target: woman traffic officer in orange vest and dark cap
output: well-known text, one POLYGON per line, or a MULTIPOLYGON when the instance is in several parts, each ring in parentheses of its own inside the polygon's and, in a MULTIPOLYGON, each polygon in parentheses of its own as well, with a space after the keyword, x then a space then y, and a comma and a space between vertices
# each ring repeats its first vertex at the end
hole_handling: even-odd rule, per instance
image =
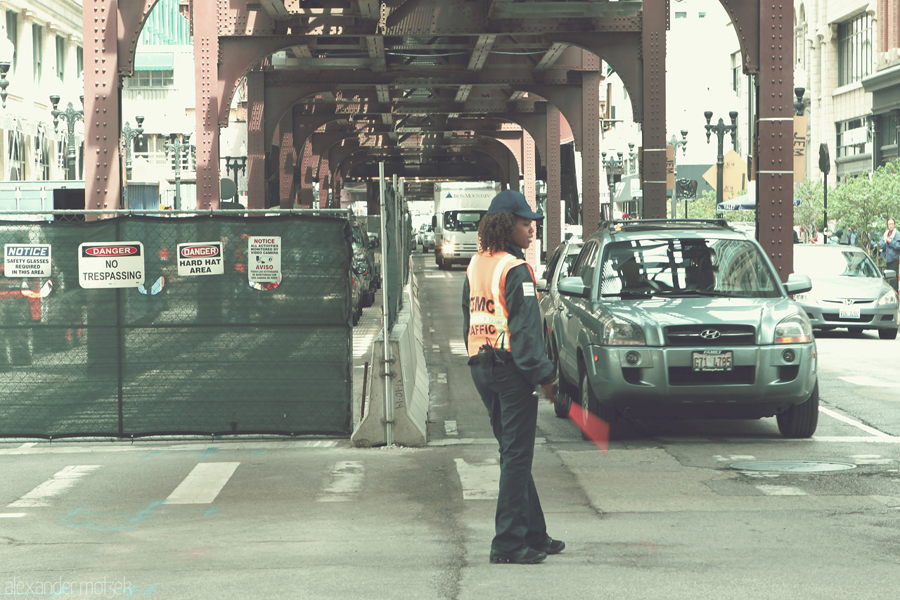
POLYGON ((540 385, 554 401, 555 368, 544 353, 536 279, 523 250, 532 223, 544 216, 525 195, 494 196, 478 226, 479 251, 463 286, 464 340, 472 379, 500 444, 500 494, 491 541, 492 563, 536 564, 565 544, 547 535, 531 464, 535 456, 540 385))

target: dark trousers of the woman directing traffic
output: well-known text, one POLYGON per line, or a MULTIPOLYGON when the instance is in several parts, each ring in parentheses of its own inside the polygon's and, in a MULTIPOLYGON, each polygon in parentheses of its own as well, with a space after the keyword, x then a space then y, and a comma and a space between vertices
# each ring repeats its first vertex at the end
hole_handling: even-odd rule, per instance
POLYGON ((500 494, 491 548, 511 551, 524 544, 539 545, 547 537, 547 525, 531 477, 537 432, 535 386, 512 365, 491 369, 473 365, 471 369, 500 444, 500 494))

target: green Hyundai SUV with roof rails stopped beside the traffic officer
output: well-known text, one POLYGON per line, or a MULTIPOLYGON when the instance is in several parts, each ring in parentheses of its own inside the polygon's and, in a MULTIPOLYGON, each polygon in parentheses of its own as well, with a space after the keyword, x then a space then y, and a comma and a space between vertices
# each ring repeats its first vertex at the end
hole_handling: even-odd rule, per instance
POLYGON ((775 416, 788 438, 818 423, 815 340, 760 244, 724 220, 603 223, 559 282, 563 391, 609 424, 775 416))

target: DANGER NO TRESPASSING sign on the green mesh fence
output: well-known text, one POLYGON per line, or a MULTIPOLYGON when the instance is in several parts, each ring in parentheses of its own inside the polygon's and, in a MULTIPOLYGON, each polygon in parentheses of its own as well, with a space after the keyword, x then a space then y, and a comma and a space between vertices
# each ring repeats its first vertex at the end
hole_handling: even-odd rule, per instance
POLYGON ((137 287, 144 284, 144 245, 139 241, 85 242, 78 246, 82 287, 137 287))

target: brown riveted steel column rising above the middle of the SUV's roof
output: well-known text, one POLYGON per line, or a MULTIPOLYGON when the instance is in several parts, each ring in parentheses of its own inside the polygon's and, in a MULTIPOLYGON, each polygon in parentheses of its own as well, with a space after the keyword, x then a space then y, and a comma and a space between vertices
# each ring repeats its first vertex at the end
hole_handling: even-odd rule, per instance
POLYGON ((644 58, 643 216, 666 217, 666 0, 645 0, 641 34, 644 58))

